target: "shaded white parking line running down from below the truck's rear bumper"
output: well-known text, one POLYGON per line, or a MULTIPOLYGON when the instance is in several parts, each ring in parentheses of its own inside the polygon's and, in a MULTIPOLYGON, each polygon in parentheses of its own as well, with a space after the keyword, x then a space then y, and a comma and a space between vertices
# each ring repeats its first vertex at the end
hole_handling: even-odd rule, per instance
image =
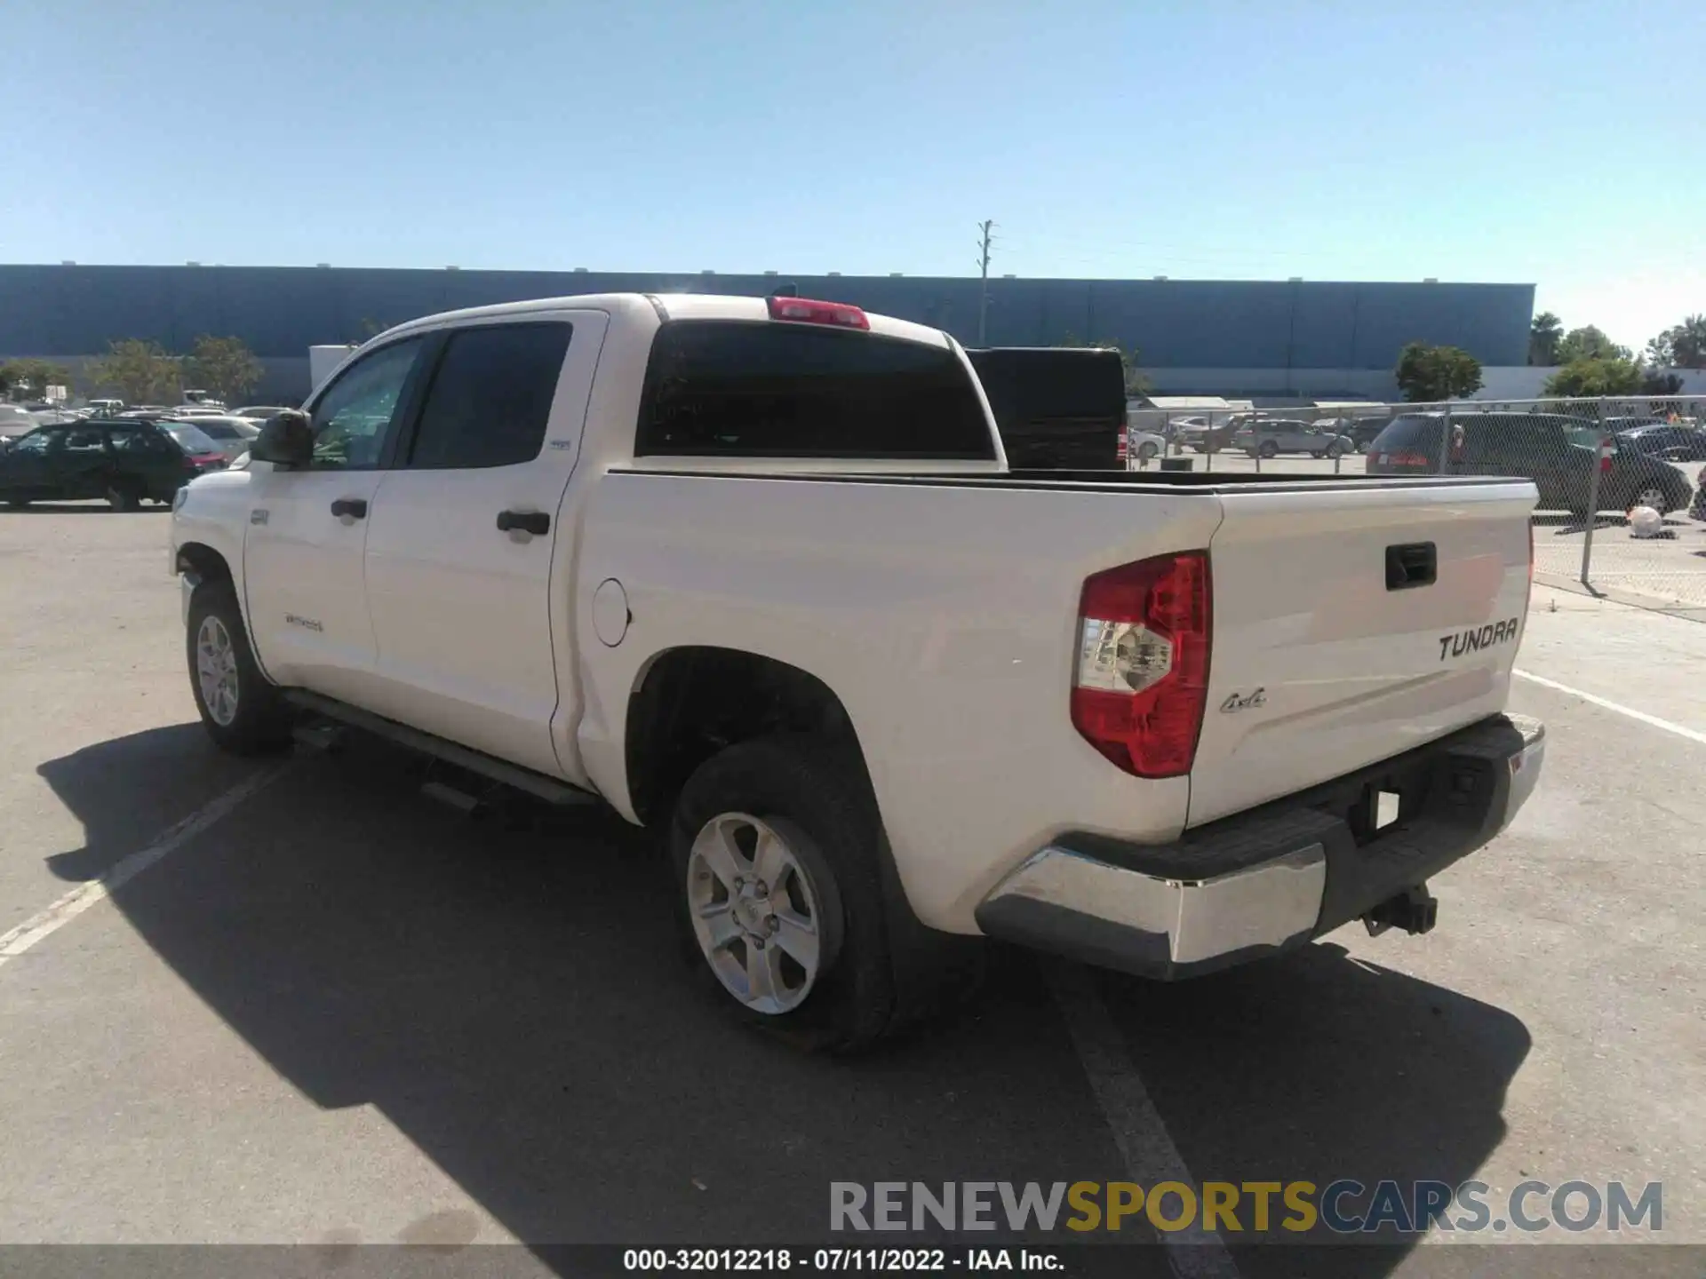
MULTIPOLYGON (((1102 1107, 1102 1117, 1114 1134, 1126 1175, 1143 1187, 1145 1194, 1160 1182, 1182 1182, 1196 1189, 1184 1156, 1167 1134, 1167 1124, 1150 1100, 1138 1068, 1126 1052, 1119 1027, 1109 1016, 1090 974, 1076 964, 1044 960, 1054 1003, 1066 1018, 1066 1032, 1090 1090, 1102 1107)), ((1239 1279, 1239 1267, 1221 1241, 1220 1233, 1192 1226, 1181 1231, 1157 1231, 1167 1247, 1167 1264, 1179 1279, 1239 1279)))

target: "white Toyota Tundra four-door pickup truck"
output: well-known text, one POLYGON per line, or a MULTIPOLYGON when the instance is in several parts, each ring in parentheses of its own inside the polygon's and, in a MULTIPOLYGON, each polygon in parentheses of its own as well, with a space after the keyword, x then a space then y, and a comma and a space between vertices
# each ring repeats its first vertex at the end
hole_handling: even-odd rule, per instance
POLYGON ((1534 501, 1010 471, 937 329, 606 295, 372 339, 171 561, 220 747, 314 715, 602 798, 717 998, 846 1049, 979 935, 1170 979, 1430 928, 1541 769, 1534 501))

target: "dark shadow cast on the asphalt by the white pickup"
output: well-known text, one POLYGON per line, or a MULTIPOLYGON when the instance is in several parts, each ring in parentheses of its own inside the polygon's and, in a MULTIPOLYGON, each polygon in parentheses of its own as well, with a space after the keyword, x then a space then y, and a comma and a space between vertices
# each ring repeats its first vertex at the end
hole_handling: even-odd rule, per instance
MULTIPOLYGON (((206 764, 188 732, 41 767, 89 830, 55 870, 82 878, 154 836, 150 779, 206 764)), ((827 1235, 833 1180, 1123 1178, 1029 955, 993 952, 983 996, 913 1040, 802 1057, 688 981, 641 834, 602 813, 471 822, 416 781, 379 745, 297 761, 114 902, 307 1098, 375 1107, 517 1238, 804 1243, 827 1235)), ((1498 1144, 1529 1047, 1508 1013, 1332 945, 1099 984, 1198 1180, 1460 1182, 1498 1144)), ((391 1241, 322 1211, 322 1243, 391 1241)), ((442 1245, 476 1230, 416 1224, 442 1245)), ((1407 1250, 1336 1248, 1310 1270, 1372 1279, 1407 1250)), ((1295 1270, 1295 1250, 1247 1252, 1245 1274, 1295 1270)))

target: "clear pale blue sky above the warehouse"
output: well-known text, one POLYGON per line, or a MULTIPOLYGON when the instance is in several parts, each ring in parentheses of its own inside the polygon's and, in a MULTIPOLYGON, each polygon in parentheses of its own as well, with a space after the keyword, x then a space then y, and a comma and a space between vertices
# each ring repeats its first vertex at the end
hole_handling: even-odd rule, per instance
POLYGON ((1706 312, 1701 0, 19 0, 7 39, 0 261, 969 275, 989 217, 996 273, 1706 312))

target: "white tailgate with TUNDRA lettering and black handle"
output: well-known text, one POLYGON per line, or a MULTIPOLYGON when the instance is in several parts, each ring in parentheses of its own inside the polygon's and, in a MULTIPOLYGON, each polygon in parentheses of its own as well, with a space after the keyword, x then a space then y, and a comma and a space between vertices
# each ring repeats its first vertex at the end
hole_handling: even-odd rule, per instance
POLYGON ((1534 486, 1227 491, 1189 825, 1505 706, 1534 486))

